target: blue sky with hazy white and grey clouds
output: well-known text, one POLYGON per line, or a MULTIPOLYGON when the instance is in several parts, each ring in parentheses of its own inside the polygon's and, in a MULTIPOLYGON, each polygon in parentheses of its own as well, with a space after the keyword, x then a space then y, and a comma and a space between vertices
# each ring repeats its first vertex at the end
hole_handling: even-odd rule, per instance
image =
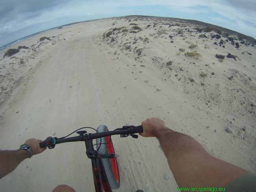
POLYGON ((0 47, 65 24, 128 15, 198 20, 256 39, 256 0, 1 0, 0 47))

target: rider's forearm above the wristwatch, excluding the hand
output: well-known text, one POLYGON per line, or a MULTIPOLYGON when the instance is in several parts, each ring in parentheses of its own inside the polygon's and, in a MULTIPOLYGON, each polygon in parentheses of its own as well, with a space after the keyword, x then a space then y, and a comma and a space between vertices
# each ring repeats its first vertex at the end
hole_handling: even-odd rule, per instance
POLYGON ((0 151, 0 179, 11 173, 24 159, 30 157, 26 150, 0 151))

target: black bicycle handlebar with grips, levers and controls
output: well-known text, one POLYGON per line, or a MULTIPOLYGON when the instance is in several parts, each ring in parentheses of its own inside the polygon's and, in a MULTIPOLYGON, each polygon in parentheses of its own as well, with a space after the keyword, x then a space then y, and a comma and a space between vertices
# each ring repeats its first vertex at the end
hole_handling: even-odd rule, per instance
POLYGON ((63 138, 58 139, 57 137, 48 137, 44 142, 39 143, 40 148, 45 148, 46 146, 49 149, 54 148, 55 144, 65 143, 65 142, 76 142, 76 141, 83 141, 83 137, 89 136, 91 139, 95 138, 101 138, 106 137, 110 135, 124 135, 123 137, 128 137, 128 135, 131 135, 134 138, 137 138, 138 136, 134 135, 134 133, 142 133, 143 127, 142 126, 123 126, 122 128, 117 129, 117 131, 106 131, 101 133, 85 133, 84 135, 79 135, 76 137, 69 137, 69 138, 63 138))

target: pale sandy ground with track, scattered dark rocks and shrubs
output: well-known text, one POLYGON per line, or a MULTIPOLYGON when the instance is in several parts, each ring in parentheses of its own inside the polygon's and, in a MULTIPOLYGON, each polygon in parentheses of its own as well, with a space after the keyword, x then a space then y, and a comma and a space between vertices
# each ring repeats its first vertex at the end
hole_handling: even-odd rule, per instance
MULTIPOLYGON (((0 61, 1 150, 17 150, 28 138, 63 137, 84 126, 96 129, 104 124, 113 130, 160 117, 169 128, 195 138, 211 155, 256 172, 256 47, 235 40, 240 45, 236 48, 221 37, 223 48, 213 44, 221 39, 209 37, 217 33, 197 33, 195 26, 178 26, 171 19, 130 20, 81 22, 0 51, 3 56, 9 48, 29 47, 0 61), (131 31, 131 23, 143 30, 113 31, 131 31), (115 34, 106 37, 108 31, 115 34), (39 42, 41 37, 51 41, 39 42), (191 44, 197 47, 191 50, 191 44), (192 51, 201 57, 184 54, 192 51), (239 59, 215 58, 228 53, 239 59), (172 65, 167 66, 169 61, 172 65), (207 76, 200 76, 202 72, 207 76)), ((115 191, 176 191, 156 138, 117 135, 112 140, 120 155, 121 187, 115 191)), ((83 142, 60 144, 20 163, 0 180, 0 191, 45 192, 66 184, 77 192, 93 192, 91 169, 83 142)))

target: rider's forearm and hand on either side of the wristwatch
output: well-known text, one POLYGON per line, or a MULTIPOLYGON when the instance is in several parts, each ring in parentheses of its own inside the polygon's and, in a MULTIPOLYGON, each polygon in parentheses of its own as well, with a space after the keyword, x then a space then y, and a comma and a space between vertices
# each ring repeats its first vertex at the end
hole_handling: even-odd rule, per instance
MULTIPOLYGON (((46 148, 40 148, 39 143, 42 140, 30 138, 24 144, 30 146, 33 155, 42 153, 46 148)), ((11 173, 24 159, 30 157, 27 150, 0 151, 0 179, 11 173)))

